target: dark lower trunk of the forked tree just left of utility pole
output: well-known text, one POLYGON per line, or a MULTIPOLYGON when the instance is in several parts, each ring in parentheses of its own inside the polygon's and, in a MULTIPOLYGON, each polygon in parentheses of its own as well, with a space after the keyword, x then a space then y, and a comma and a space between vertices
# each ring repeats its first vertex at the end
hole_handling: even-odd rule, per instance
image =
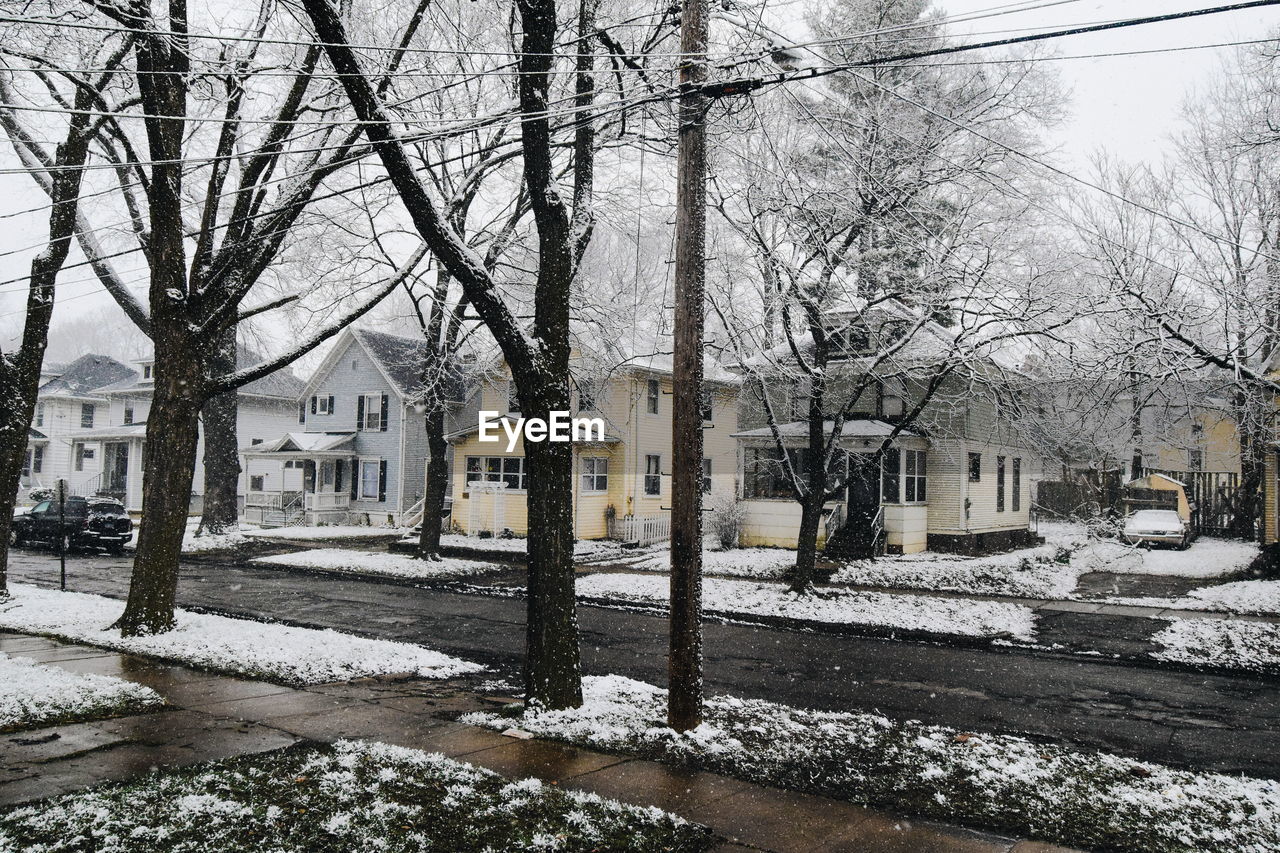
MULTIPOLYGON (((567 374, 566 374, 567 375, 567 374)), ((568 386, 557 400, 535 406, 531 418, 568 410, 568 386)), ((529 602, 526 615, 525 695, 545 708, 582 704, 577 613, 573 590, 573 446, 527 442, 529 602)))

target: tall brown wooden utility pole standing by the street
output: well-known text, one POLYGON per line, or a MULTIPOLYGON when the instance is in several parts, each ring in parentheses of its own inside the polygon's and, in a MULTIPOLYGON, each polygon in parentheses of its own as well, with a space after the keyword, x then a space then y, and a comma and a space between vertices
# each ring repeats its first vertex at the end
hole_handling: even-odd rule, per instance
POLYGON ((667 722, 703 720, 703 284, 707 257, 707 0, 680 20, 675 412, 671 430, 671 657, 667 722))

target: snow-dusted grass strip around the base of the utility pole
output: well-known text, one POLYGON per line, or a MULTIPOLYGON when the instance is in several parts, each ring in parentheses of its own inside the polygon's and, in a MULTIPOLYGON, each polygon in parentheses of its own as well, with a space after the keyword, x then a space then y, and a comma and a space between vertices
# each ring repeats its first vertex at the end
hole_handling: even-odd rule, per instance
MULTIPOLYGON (((1275 780, 724 695, 710 697, 705 722, 681 735, 667 727, 666 690, 620 676, 588 678, 584 690, 581 708, 529 712, 516 725, 538 736, 1085 849, 1280 849, 1275 780)), ((512 725, 499 713, 462 721, 512 725)))

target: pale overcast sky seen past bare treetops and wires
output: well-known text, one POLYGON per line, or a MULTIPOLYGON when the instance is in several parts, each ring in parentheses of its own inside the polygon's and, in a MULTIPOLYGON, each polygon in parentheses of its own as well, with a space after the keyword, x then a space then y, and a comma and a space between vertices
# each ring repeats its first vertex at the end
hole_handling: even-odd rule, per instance
MULTIPOLYGON (((1052 0, 1047 0, 1052 1, 1052 0)), ((940 0, 952 17, 964 17, 1001 5, 1004 0, 940 0)), ((1166 14, 1203 8, 1211 0, 1079 0, 1051 8, 1002 14, 956 23, 952 32, 966 40, 998 38, 1016 33, 992 33, 1042 27, 1070 27, 1115 18, 1166 14)), ((1192 20, 1151 24, 1116 32, 1062 38, 1053 44, 1059 55, 1100 54, 1125 50, 1181 47, 1262 38, 1280 28, 1280 8, 1233 12, 1192 20)), ((1208 85, 1231 49, 1194 50, 1142 56, 1069 59, 1057 61, 1061 79, 1070 91, 1070 115, 1057 131, 1059 163, 1085 174, 1091 154, 1106 149, 1126 160, 1158 160, 1175 131, 1188 91, 1208 85)), ((0 143, 0 168, 18 165, 13 151, 0 143)), ((0 174, 0 216, 44 202, 24 175, 0 174)), ((44 238, 46 214, 0 219, 0 280, 24 275, 29 268, 26 246, 44 238)), ((78 254, 72 261, 82 260, 78 254)), ((142 266, 124 257, 119 268, 125 278, 137 278, 142 266)), ((22 283, 0 283, 0 341, 9 342, 20 328, 24 292, 22 283)), ((110 298, 100 292, 87 268, 63 274, 55 318, 120 316, 110 298)))

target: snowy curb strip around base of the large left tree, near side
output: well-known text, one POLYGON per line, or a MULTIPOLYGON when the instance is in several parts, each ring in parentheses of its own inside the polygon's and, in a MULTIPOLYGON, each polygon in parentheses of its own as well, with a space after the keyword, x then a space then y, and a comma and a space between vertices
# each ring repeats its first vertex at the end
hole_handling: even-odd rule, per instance
POLYGON ((289 684, 390 672, 444 679, 484 669, 408 643, 183 610, 177 611, 178 624, 170 631, 120 637, 108 628, 120 615, 119 601, 27 584, 12 584, 10 592, 12 598, 0 605, 0 628, 289 684))

